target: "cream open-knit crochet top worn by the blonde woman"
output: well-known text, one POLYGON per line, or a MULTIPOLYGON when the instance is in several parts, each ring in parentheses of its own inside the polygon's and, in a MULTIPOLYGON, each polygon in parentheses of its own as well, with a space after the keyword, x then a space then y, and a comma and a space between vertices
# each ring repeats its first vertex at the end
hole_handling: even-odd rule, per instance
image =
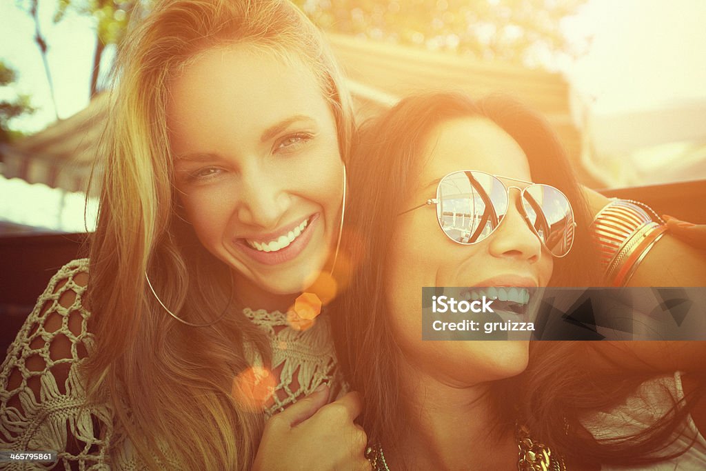
MULTIPOLYGON (((130 443, 109 449, 115 434, 109 408, 85 407, 78 366, 95 350, 87 328, 90 312, 81 302, 85 273, 88 258, 61 268, 8 349, 0 371, 0 450, 58 451, 59 469, 142 469, 130 443), (66 381, 57 382, 57 376, 66 381), (79 453, 67 451, 70 437, 83 446, 79 453)), ((272 341, 272 371, 279 383, 265 415, 296 402, 323 382, 341 387, 328 318, 320 316, 311 328, 295 330, 289 327, 287 314, 279 311, 243 313, 272 341)), ((256 358, 253 362, 257 366, 256 358)), ((19 462, 0 463, 0 468, 46 469, 19 462)))

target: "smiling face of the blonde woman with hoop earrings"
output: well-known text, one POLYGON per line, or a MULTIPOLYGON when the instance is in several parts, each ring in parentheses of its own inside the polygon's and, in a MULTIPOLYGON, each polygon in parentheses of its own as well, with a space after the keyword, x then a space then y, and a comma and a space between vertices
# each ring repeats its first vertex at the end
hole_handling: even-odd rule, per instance
POLYGON ((199 54, 169 92, 175 184, 201 244, 239 287, 301 292, 335 243, 343 186, 313 73, 237 44, 199 54))

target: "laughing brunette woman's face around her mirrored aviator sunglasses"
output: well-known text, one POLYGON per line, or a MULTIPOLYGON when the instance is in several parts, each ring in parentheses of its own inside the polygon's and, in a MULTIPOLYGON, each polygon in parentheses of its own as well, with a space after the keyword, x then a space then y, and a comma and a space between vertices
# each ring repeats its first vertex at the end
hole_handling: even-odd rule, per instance
MULTIPOLYGON (((532 181, 519 145, 489 119, 443 121, 430 133, 421 172, 406 208, 433 198, 438 179, 456 170, 532 181)), ((552 258, 527 225, 510 189, 508 213, 481 242, 463 246, 441 232, 433 205, 397 218, 385 287, 389 313, 405 360, 421 374, 462 387, 514 376, 527 366, 525 341, 421 340, 421 287, 546 286, 552 258)))

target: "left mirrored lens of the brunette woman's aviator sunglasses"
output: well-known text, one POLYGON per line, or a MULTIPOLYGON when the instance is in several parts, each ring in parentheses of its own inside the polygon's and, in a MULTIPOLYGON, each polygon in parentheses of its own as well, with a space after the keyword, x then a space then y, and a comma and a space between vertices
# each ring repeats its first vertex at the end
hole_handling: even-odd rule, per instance
POLYGON ((474 244, 498 227, 508 210, 502 182, 482 172, 453 172, 438 186, 436 215, 441 229, 460 244, 474 244))

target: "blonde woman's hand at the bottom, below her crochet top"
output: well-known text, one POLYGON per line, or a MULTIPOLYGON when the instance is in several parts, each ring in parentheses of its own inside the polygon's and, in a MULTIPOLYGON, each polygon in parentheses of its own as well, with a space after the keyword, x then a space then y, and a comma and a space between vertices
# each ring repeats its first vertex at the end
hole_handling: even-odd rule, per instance
POLYGON ((361 412, 358 393, 347 393, 328 402, 328 386, 322 385, 306 398, 265 424, 253 471, 366 470, 367 436, 354 424, 361 412))

